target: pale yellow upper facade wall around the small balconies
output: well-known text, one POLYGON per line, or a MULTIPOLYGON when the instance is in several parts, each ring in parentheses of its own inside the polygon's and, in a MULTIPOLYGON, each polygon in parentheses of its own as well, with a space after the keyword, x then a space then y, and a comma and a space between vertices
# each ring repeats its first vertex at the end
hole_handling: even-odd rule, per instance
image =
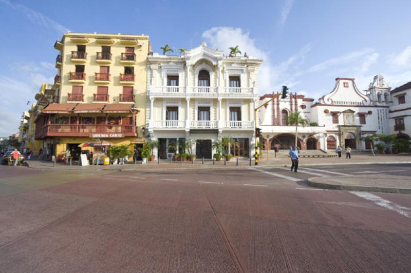
MULTIPOLYGON (((123 86, 133 86, 134 94, 136 96, 135 106, 140 111, 137 113, 137 126, 138 134, 140 139, 143 139, 143 133, 141 131, 142 127, 145 127, 145 107, 146 107, 146 81, 147 81, 147 56, 149 51, 149 40, 147 35, 117 35, 117 34, 90 34, 90 33, 68 33, 63 36, 63 50, 59 51, 63 56, 62 67, 58 69, 58 74, 61 75, 61 86, 60 86, 60 103, 67 102, 67 94, 71 93, 73 85, 83 86, 84 103, 92 103, 94 97, 93 94, 97 93, 97 86, 108 86, 109 103, 118 103, 120 94, 123 92, 123 86), (74 43, 70 41, 70 36, 86 36, 88 37, 89 43, 85 44, 87 53, 86 63, 74 63, 71 61, 71 51, 77 51, 77 45, 79 43, 74 43), (96 42, 96 37, 111 37, 115 41, 114 44, 100 44, 96 42), (120 42, 120 37, 133 37, 137 38, 139 45, 124 45, 120 42), (111 64, 101 64, 96 61, 96 52, 101 52, 102 46, 111 47, 111 64), (134 47, 134 52, 136 54, 136 64, 122 64, 120 62, 121 53, 125 53, 126 47, 134 47), (86 73, 86 83, 70 83, 69 82, 69 72, 74 72, 75 65, 84 65, 86 73), (110 79, 109 84, 95 84, 94 76, 95 72, 100 72, 100 66, 110 67, 110 79), (124 73, 125 66, 134 67, 135 83, 133 85, 120 84, 119 77, 120 73, 124 73)), ((54 86, 54 89, 59 87, 54 86)))

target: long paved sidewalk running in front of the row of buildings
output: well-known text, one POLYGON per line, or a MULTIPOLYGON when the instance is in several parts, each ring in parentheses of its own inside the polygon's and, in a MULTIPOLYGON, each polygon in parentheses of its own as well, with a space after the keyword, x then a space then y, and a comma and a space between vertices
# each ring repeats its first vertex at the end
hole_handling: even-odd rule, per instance
MULTIPOLYGON (((27 161, 28 166, 33 169, 62 169, 62 170, 163 170, 163 169, 211 169, 211 168, 238 168, 249 167, 250 161, 248 159, 238 160, 238 166, 236 165, 236 159, 232 159, 224 165, 223 161, 215 162, 205 160, 202 164, 201 160, 196 160, 194 164, 191 162, 172 162, 167 160, 161 160, 158 162, 150 162, 147 165, 141 164, 125 164, 125 165, 92 165, 92 166, 78 166, 57 163, 55 167, 50 161, 27 161)), ((345 158, 301 158, 300 166, 321 166, 321 165, 348 165, 348 164, 399 164, 399 163, 411 163, 410 155, 397 155, 397 154, 381 154, 373 157, 367 153, 354 153, 351 159, 345 158)), ((259 161, 258 166, 254 165, 254 160, 251 161, 251 167, 284 167, 291 164, 288 157, 269 158, 259 161)))

